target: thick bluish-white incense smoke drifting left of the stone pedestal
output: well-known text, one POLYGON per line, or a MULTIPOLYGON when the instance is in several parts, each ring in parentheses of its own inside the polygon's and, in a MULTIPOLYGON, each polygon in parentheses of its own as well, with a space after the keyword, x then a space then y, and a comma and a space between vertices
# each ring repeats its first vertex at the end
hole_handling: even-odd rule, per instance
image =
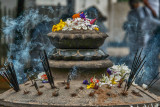
POLYGON ((9 40, 8 61, 14 64, 18 81, 22 83, 26 78, 25 69, 33 67, 36 69, 33 73, 42 70, 39 52, 45 49, 49 54, 53 50, 54 46, 46 34, 57 22, 33 9, 16 19, 3 17, 2 20, 5 24, 3 33, 9 40))

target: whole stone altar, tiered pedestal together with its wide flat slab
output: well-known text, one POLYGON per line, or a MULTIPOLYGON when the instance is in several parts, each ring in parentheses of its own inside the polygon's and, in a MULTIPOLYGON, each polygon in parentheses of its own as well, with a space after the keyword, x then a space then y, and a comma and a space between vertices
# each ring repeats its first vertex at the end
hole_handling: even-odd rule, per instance
MULTIPOLYGON (((87 69, 84 70, 88 73, 87 76, 94 76, 94 73, 101 75, 108 67, 112 66, 112 62, 107 59, 108 55, 98 49, 107 35, 97 31, 80 30, 70 31, 70 33, 54 32, 49 33, 48 36, 56 46, 54 53, 50 56, 49 63, 53 70, 57 89, 51 89, 49 84, 36 80, 39 90, 43 92, 42 95, 38 95, 37 90, 32 86, 32 82, 28 81, 20 85, 21 90, 19 92, 10 89, 0 94, 0 104, 13 107, 159 106, 159 96, 149 93, 136 85, 130 88, 126 96, 122 94, 123 88, 118 88, 117 85, 112 88, 102 85, 97 90, 87 89, 85 88, 86 85, 82 84, 82 78, 88 79, 86 75, 81 75, 80 81, 72 81, 70 83, 71 88, 66 90, 64 82, 57 80, 65 80, 68 74, 66 71, 73 66, 76 66, 78 70, 87 69), (87 44, 88 42, 93 47, 87 44), (29 93, 25 94, 25 91, 29 93), (55 92, 59 92, 59 95, 54 96, 55 92)), ((122 87, 124 85, 122 84, 122 87)))

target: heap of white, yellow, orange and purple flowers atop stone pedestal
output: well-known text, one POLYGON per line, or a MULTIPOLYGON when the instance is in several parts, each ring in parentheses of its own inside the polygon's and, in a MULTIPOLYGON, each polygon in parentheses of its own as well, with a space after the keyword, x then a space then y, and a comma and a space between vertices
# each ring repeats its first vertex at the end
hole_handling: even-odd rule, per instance
POLYGON ((99 31, 99 27, 95 24, 95 19, 87 18, 83 12, 74 14, 71 18, 68 18, 65 22, 60 20, 56 25, 53 25, 52 32, 56 31, 71 31, 71 30, 96 30, 99 31))

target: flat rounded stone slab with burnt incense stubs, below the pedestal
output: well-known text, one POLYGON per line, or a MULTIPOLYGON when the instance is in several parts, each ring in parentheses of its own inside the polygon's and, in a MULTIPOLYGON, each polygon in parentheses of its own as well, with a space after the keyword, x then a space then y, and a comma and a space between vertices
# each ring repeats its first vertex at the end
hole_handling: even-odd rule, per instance
MULTIPOLYGON (((143 88, 139 86, 132 85, 130 90, 127 92, 128 95, 124 96, 122 95, 123 89, 118 88, 117 86, 108 89, 106 88, 107 85, 103 85, 102 87, 99 87, 95 90, 87 89, 86 85, 82 84, 82 82, 83 81, 72 81, 70 82, 70 89, 66 90, 64 89, 65 84, 62 85, 62 81, 55 81, 55 85, 59 88, 59 91, 55 92, 56 90, 51 89, 49 84, 43 84, 41 81, 37 81, 37 84, 44 85, 44 88, 41 88, 40 90, 43 92, 43 94, 40 96, 37 96, 37 91, 34 87, 21 84, 21 89, 27 89, 27 91, 30 92, 28 94, 23 94, 24 90, 20 90, 18 93, 15 93, 13 89, 10 89, 0 94, 0 105, 10 107, 82 105, 108 107, 158 107, 158 103, 160 101, 159 96, 156 96, 149 91, 143 90, 143 88), (84 87, 83 90, 81 90, 80 87, 84 87), (73 93, 76 95, 72 96, 73 93)), ((122 84, 122 87, 124 87, 124 85, 125 84, 122 84)))

